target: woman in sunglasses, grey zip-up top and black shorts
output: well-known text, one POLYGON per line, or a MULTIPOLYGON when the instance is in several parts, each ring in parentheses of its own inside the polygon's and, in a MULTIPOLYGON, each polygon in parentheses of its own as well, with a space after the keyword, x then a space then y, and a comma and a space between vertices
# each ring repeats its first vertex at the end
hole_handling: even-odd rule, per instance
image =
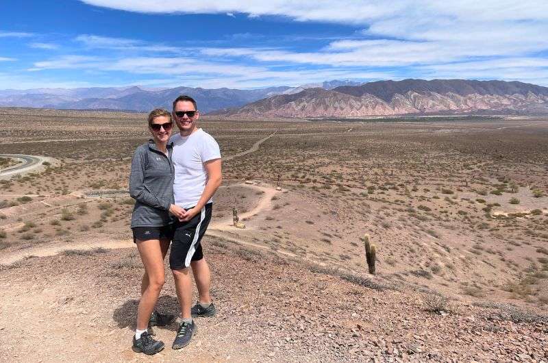
POLYGON ((153 138, 135 151, 129 175, 129 195, 136 200, 132 230, 145 266, 133 349, 152 355, 164 349, 164 343, 154 340, 147 327, 166 325, 175 318, 158 314, 154 305, 164 285, 164 258, 173 237, 169 213, 180 216, 184 211, 173 204, 175 171, 171 162, 173 143, 169 143, 173 128, 171 114, 162 109, 153 110, 148 123, 153 138))

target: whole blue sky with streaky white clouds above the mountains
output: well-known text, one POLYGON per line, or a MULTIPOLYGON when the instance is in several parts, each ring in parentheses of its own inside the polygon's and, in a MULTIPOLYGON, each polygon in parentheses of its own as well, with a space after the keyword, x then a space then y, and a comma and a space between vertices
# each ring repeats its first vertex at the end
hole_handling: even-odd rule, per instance
POLYGON ((330 79, 548 86, 545 0, 0 3, 0 89, 330 79))

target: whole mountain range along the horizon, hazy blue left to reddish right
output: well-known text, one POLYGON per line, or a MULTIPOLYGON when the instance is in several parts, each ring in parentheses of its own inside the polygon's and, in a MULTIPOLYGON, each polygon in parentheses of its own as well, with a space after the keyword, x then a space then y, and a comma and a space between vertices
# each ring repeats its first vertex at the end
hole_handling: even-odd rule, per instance
POLYGON ((37 88, 0 90, 0 107, 148 111, 171 108, 178 95, 203 113, 229 118, 360 117, 403 114, 548 114, 548 88, 522 82, 405 79, 333 80, 297 87, 37 88))

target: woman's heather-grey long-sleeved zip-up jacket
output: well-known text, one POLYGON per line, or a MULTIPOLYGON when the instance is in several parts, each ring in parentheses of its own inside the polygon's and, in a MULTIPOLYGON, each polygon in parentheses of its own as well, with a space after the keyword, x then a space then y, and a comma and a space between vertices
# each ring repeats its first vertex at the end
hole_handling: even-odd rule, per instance
POLYGON ((175 169, 171 162, 173 142, 168 155, 156 148, 153 140, 140 145, 133 156, 129 175, 129 195, 136 200, 132 214, 133 227, 161 227, 173 223, 169 205, 173 200, 175 169))

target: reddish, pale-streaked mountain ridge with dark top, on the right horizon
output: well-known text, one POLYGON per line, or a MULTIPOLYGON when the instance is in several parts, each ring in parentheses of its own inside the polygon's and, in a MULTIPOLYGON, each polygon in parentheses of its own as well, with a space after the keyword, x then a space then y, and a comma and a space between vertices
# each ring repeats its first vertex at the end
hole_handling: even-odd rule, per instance
POLYGON ((299 118, 471 112, 548 114, 548 88, 522 82, 465 79, 379 81, 276 95, 221 116, 299 118))

